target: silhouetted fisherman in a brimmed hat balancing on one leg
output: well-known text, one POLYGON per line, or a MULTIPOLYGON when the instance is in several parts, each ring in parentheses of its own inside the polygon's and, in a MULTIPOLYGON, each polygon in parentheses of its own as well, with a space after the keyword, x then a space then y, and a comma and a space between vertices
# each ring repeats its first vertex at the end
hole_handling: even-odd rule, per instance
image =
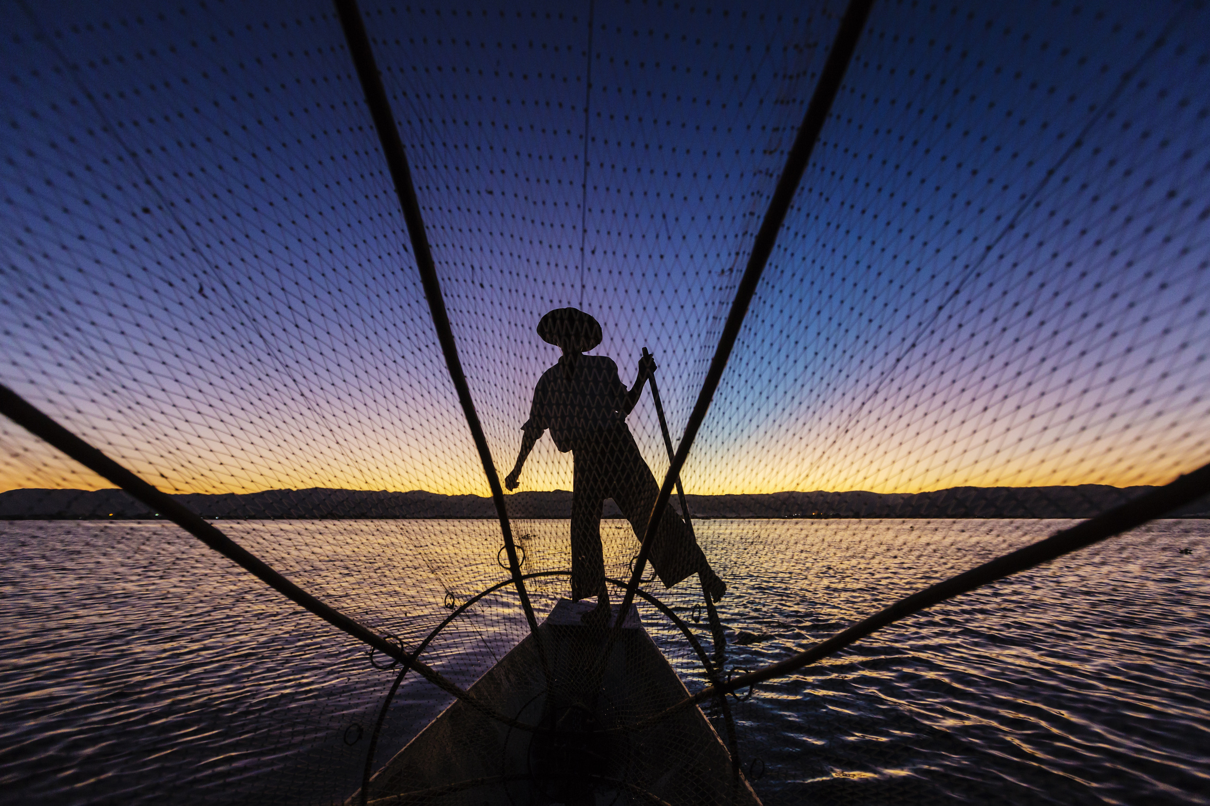
MULTIPOLYGON (((560 451, 571 451, 575 466, 571 598, 578 602, 595 596, 597 607, 584 614, 583 621, 604 625, 610 617, 600 535, 605 499, 613 499, 641 540, 659 494, 659 486, 626 425, 626 416, 639 401, 643 385, 656 371, 656 363, 650 355, 644 356, 634 385, 627 389, 612 359, 584 355, 601 343, 601 326, 577 308, 549 312, 538 321, 537 335, 561 348, 563 358, 542 373, 534 389, 530 418, 522 427, 522 450, 505 485, 517 489, 525 458, 547 429, 560 451)), ((664 509, 652 539, 651 564, 664 587, 696 573, 715 602, 722 598, 727 586, 710 568, 693 533, 670 506, 664 509)))

